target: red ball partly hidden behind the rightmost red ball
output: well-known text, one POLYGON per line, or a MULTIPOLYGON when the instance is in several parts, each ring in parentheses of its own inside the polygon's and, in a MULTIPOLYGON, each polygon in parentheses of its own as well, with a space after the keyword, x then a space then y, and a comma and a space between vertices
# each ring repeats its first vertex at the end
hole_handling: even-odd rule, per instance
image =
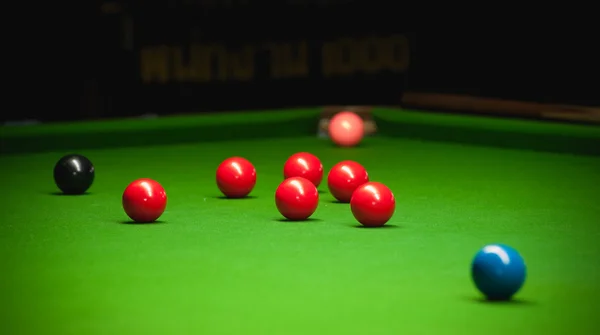
POLYGON ((334 165, 327 176, 327 186, 334 198, 348 203, 352 193, 369 181, 367 170, 357 162, 342 161, 334 165))

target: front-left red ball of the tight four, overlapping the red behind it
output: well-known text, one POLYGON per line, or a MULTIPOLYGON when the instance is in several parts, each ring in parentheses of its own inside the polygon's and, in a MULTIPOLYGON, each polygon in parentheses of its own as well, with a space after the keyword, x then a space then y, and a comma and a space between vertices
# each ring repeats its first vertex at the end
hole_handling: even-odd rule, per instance
POLYGON ((286 219, 306 220, 317 210, 319 192, 317 187, 306 178, 288 178, 277 187, 275 204, 279 213, 286 219))

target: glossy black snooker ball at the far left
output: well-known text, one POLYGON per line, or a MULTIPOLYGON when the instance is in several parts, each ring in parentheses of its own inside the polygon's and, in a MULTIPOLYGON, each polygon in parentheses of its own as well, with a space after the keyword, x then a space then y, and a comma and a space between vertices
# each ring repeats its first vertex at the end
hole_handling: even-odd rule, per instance
POLYGON ((54 166, 54 182, 64 194, 83 194, 94 182, 94 165, 85 156, 63 156, 54 166))

